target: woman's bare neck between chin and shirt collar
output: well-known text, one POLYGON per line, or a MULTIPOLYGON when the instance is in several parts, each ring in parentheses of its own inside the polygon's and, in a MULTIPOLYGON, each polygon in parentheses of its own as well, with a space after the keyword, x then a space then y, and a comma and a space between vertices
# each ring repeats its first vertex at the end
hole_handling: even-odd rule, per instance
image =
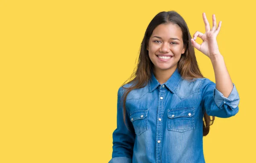
POLYGON ((176 68, 177 66, 167 70, 154 69, 154 76, 160 84, 163 84, 172 76, 176 68))

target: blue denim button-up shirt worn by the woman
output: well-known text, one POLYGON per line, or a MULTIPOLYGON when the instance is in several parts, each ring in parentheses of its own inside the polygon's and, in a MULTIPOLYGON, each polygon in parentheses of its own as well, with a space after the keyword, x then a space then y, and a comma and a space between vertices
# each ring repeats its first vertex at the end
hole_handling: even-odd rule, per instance
POLYGON ((234 84, 226 98, 207 78, 187 81, 176 69, 161 85, 151 73, 147 86, 132 90, 126 98, 130 132, 120 105, 124 91, 122 87, 118 90, 117 128, 109 163, 205 163, 204 112, 227 118, 239 111, 234 84))

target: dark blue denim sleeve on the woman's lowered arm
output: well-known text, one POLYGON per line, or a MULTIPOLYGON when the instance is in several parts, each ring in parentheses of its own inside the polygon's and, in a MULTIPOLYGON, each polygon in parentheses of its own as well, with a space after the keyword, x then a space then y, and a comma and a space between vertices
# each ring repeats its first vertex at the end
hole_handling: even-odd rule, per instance
POLYGON ((123 88, 120 87, 117 95, 117 127, 113 132, 113 152, 109 163, 132 163, 135 132, 127 108, 125 114, 127 126, 123 120, 122 92, 123 88))

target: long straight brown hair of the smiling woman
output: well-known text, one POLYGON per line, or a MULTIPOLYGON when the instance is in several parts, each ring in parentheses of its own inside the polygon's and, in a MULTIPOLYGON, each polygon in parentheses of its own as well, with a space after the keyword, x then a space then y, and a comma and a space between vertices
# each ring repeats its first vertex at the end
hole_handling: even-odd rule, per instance
MULTIPOLYGON (((188 78, 203 78, 201 71, 198 67, 198 63, 195 57, 195 50, 191 44, 191 36, 189 29, 186 25, 183 17, 180 16, 176 11, 162 11, 158 13, 149 23, 145 35, 143 37, 141 46, 140 46, 140 55, 137 62, 137 66, 134 69, 133 74, 122 84, 122 87, 125 90, 122 96, 122 106, 123 106, 123 120, 125 122, 125 100, 129 92, 134 89, 143 88, 147 85, 148 81, 151 79, 151 71, 153 71, 153 63, 151 62, 148 56, 147 45, 149 38, 153 33, 154 29, 160 24, 176 24, 180 27, 183 37, 183 45, 186 47, 186 50, 181 54, 180 60, 178 61, 178 71, 183 79, 188 78), (130 80, 130 81, 129 81, 130 80), (124 87, 126 82, 132 83, 128 88, 124 87)), ((206 136, 209 133, 210 125, 213 124, 215 117, 212 116, 212 120, 207 113, 204 113, 204 123, 203 123, 203 135, 206 136), (212 122, 212 123, 211 123, 212 122)), ((126 125, 126 123, 125 123, 126 125)))

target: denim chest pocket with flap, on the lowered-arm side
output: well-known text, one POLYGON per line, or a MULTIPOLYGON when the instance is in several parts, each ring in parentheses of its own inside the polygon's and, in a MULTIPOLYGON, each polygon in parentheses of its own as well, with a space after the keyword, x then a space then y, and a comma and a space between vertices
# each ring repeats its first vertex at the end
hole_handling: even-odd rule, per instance
POLYGON ((131 112, 130 120, 134 126, 135 134, 142 134, 148 129, 148 110, 131 112))

